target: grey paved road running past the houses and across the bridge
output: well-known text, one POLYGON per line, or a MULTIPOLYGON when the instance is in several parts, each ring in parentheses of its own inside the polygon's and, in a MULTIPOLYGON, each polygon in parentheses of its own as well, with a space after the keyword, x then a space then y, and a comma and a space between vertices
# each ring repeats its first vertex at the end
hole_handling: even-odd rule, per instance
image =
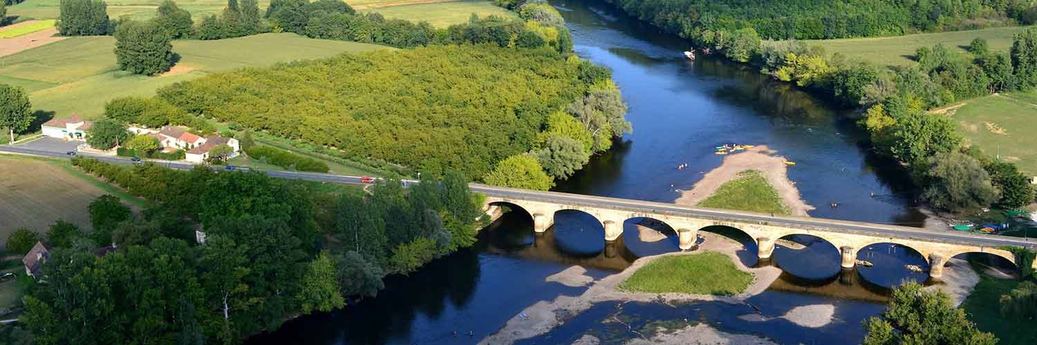
MULTIPOLYGON (((0 145, 0 152, 31 154, 40 156, 51 156, 51 157, 63 157, 63 159, 72 157, 72 155, 68 155, 65 152, 54 152, 54 151, 47 151, 41 149, 33 149, 28 147, 10 146, 10 145, 0 145)), ((109 163, 133 164, 132 161, 125 157, 110 156, 110 155, 92 155, 84 153, 80 154, 85 156, 95 157, 97 160, 109 163)), ((171 163, 171 162, 158 161, 156 162, 156 164, 174 169, 194 168, 193 165, 185 163, 171 163)), ((221 168, 214 167, 214 169, 221 169, 221 168)), ((248 171, 249 169, 242 168, 241 170, 248 171)), ((306 173, 306 172, 296 172, 296 171, 267 171, 267 174, 273 177, 306 179, 312 181, 337 182, 337 183, 363 183, 360 180, 360 176, 330 175, 330 174, 306 173)), ((411 183, 416 183, 416 182, 417 181, 415 180, 403 180, 404 185, 409 185, 411 183)), ((550 202, 569 204, 569 205, 585 205, 591 207, 627 209, 632 211, 647 212, 647 213, 665 213, 673 215, 700 217, 700 218, 710 218, 710 219, 728 219, 728 220, 751 222, 751 223, 765 222, 770 225, 814 227, 831 231, 864 233, 864 234, 877 235, 881 237, 933 240, 933 241, 952 242, 952 243, 971 243, 975 246, 988 247, 988 248, 996 248, 1001 246, 1022 246, 1031 249, 1037 249, 1037 241, 1031 241, 1029 239, 1024 239, 1019 237, 1010 237, 1010 236, 975 234, 975 233, 958 232, 958 231, 928 231, 920 228, 889 226, 889 225, 879 225, 879 224, 861 223, 861 222, 845 222, 845 221, 825 220, 825 219, 767 217, 766 214, 759 214, 759 213, 704 209, 704 208, 688 207, 688 206, 662 203, 662 202, 606 198, 606 197, 567 194, 558 192, 539 192, 539 191, 508 189, 508 188, 492 186, 479 183, 472 183, 471 186, 473 192, 478 192, 485 194, 487 196, 500 197, 500 198, 550 201, 550 202)))

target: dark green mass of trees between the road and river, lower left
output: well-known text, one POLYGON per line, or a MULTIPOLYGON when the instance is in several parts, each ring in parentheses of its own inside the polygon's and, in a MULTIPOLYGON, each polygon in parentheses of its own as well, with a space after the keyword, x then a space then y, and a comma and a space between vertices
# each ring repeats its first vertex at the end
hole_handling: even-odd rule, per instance
MULTIPOLYGON (((364 195, 257 172, 74 165, 149 204, 134 214, 102 196, 89 206, 92 231, 58 222, 32 238, 52 249, 47 283, 31 286, 20 319, 36 344, 240 343, 299 312, 373 296, 384 276, 472 246, 482 225, 482 199, 456 172, 364 195)), ((11 236, 32 241, 21 237, 11 236)))

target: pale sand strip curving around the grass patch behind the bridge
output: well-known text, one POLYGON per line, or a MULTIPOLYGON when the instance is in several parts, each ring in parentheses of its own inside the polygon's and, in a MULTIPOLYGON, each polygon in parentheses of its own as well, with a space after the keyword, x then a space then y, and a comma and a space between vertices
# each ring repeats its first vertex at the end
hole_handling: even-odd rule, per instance
POLYGON ((776 151, 767 148, 766 145, 760 145, 729 154, 724 157, 724 163, 720 167, 702 176, 702 179, 695 183, 691 191, 681 193, 680 198, 674 202, 686 206, 698 205, 699 202, 717 192, 724 182, 735 178, 739 172, 758 170, 763 173, 775 191, 778 191, 782 202, 789 208, 792 215, 808 217, 807 211, 814 209, 814 207, 800 198, 800 191, 788 179, 788 166, 785 165, 785 157, 775 153, 776 151))

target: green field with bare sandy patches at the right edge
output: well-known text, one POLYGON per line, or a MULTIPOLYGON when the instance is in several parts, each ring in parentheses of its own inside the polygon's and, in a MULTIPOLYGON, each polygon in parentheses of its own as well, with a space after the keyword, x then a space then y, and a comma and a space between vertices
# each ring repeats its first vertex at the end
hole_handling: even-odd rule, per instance
POLYGON ((1037 176, 1037 90, 970 99, 946 112, 969 144, 1037 176))

